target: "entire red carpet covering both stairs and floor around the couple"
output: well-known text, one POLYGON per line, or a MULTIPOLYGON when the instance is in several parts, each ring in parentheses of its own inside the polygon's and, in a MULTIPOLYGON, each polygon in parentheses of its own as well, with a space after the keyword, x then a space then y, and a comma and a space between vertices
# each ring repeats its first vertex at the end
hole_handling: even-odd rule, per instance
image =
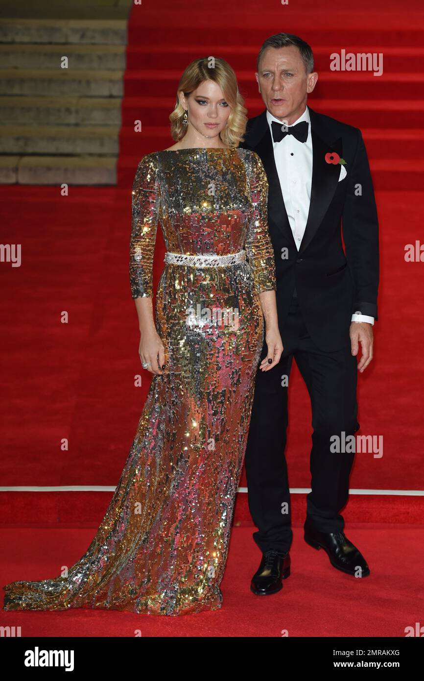
MULTIPOLYGON (((404 259, 406 244, 423 239, 424 12, 421 0, 411 0, 408 12, 383 0, 361 0, 341 12, 325 10, 333 3, 313 7, 305 0, 297 8, 270 0, 242 6, 219 1, 212 12, 197 3, 193 9, 186 3, 181 12, 174 3, 146 0, 133 8, 129 23, 119 187, 71 187, 69 197, 61 197, 57 187, 0 187, 1 242, 22 246, 20 267, 0 266, 3 486, 114 486, 118 481, 150 378, 137 354, 127 265, 135 168, 145 153, 172 144, 168 116, 178 77, 191 59, 205 54, 227 59, 254 116, 263 110, 253 76, 257 50, 268 35, 291 31, 316 53, 320 76, 310 106, 363 130, 376 187, 380 319, 374 327, 374 362, 359 377, 359 422, 361 434, 383 437, 384 451, 382 458, 357 454, 350 488, 424 489, 424 274, 421 263, 404 259), (383 75, 330 72, 329 53, 342 49, 383 52, 383 75), (142 121, 142 133, 133 131, 135 120, 142 121), (63 313, 69 315, 67 323, 61 322, 63 313), (134 377, 140 373, 143 385, 136 388, 134 377)), ((162 267, 159 238, 155 285, 162 267)), ((308 488, 310 406, 297 370, 291 377, 290 413, 291 488, 308 488)), ((240 485, 246 486, 244 475, 240 485)), ((53 576, 59 573, 58 561, 77 560, 110 496, 0 492, 3 526, 14 526, 3 529, 8 566, 2 584, 53 576), (91 529, 71 531, 58 524, 91 529), (16 529, 29 525, 56 529, 16 529)), ((238 496, 235 523, 248 524, 246 494, 238 496)), ((292 497, 299 526, 304 494, 292 497)), ((266 604, 248 591, 259 560, 252 527, 236 527, 223 609, 181 622, 143 616, 144 632, 279 636, 289 629, 292 636, 402 636, 422 613, 422 590, 416 585, 422 581, 423 542, 413 525, 423 524, 423 508, 423 496, 352 495, 344 511, 346 533, 368 558, 372 575, 356 584, 295 530, 293 575, 282 594, 266 604), (359 520, 368 523, 366 529, 348 531, 349 523, 359 520), (376 529, 373 522, 396 523, 397 529, 376 529)), ((3 613, 1 623, 6 619, 7 624, 17 621, 13 613, 3 613)), ((125 636, 132 635, 140 616, 22 613, 19 622, 25 627, 22 635, 71 635, 84 626, 85 635, 125 636)))

